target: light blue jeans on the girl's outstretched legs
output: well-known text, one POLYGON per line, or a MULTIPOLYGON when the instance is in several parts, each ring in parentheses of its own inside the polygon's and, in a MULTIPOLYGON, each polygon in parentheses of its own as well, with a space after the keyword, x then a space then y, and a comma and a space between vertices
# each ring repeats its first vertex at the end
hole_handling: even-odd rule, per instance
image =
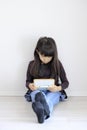
POLYGON ((60 96, 61 96, 61 93, 60 92, 50 92, 48 90, 35 90, 33 92, 31 92, 31 99, 32 99, 32 102, 35 102, 35 95, 38 93, 38 92, 42 92, 47 103, 48 103, 48 106, 49 106, 49 109, 50 109, 50 114, 52 113, 53 111, 53 108, 56 104, 59 103, 60 101, 60 96))

